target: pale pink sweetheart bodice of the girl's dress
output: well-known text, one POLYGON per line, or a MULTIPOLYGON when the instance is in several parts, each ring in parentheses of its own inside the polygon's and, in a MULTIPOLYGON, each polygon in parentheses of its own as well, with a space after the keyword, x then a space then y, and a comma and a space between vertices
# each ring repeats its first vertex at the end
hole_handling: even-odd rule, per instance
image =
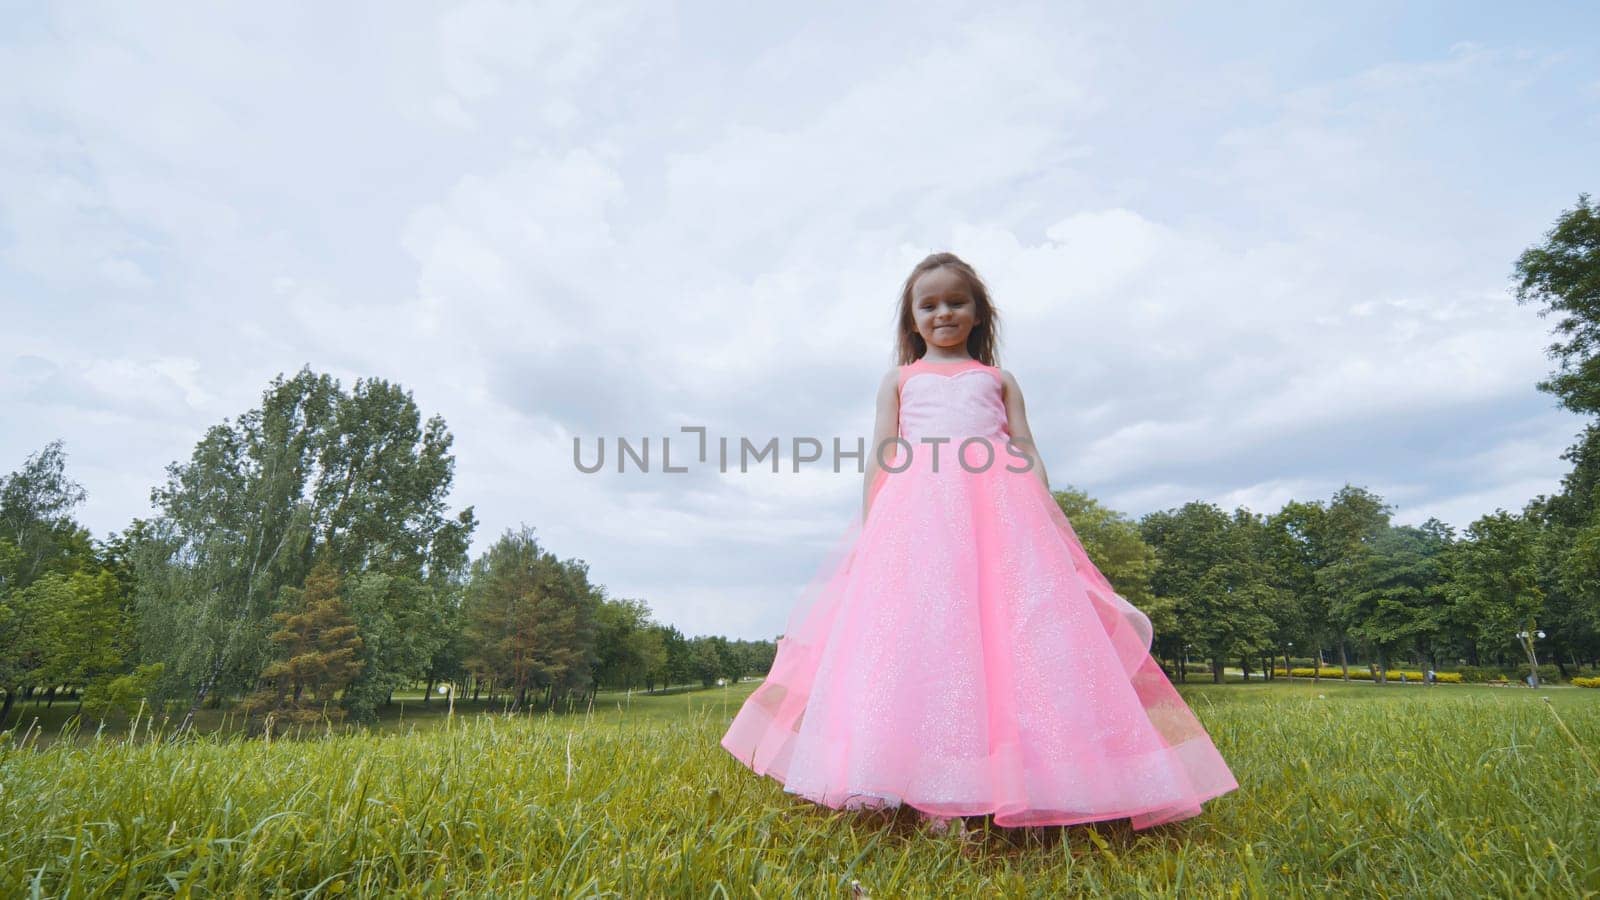
POLYGON ((899 432, 923 437, 1010 439, 1000 370, 976 359, 928 362, 899 368, 899 432))

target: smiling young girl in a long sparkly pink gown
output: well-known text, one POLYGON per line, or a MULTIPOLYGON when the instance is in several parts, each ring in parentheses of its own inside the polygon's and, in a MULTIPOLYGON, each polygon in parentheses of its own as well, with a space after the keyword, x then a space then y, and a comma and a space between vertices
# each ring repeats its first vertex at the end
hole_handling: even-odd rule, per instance
POLYGON ((1150 620, 1051 496, 997 338, 971 266, 936 253, 912 269, 861 516, 722 746, 834 809, 1002 826, 1197 815, 1238 783, 1150 658, 1150 620))

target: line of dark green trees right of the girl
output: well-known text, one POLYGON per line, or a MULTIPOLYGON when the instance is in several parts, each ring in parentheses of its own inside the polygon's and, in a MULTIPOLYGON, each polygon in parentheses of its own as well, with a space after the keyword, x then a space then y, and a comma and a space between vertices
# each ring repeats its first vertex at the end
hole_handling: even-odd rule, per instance
POLYGON ((1085 549, 1155 626, 1179 679, 1205 660, 1272 671, 1280 658, 1352 661, 1384 681, 1397 660, 1562 677, 1600 660, 1600 215, 1582 194, 1514 266, 1517 303, 1557 315, 1557 370, 1538 389, 1586 416, 1554 495, 1496 509, 1462 533, 1346 484, 1272 514, 1187 503, 1138 522, 1056 492, 1085 549))

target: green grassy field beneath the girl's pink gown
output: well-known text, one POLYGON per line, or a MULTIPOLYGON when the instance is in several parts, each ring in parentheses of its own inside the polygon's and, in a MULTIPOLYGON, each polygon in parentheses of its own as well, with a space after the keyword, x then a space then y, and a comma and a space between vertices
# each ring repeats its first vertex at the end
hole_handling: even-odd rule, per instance
POLYGON ((1240 781, 1203 815, 939 834, 739 765, 717 740, 752 687, 570 716, 430 703, 270 746, 0 737, 0 895, 1600 894, 1600 773, 1573 743, 1600 746, 1600 690, 1189 685, 1240 781))

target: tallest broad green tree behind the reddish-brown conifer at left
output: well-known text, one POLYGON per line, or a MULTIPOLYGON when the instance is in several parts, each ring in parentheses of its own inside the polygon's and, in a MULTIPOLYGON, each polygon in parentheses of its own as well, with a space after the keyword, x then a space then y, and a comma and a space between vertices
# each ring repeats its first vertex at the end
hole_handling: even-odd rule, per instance
POLYGON ((395 685, 427 677, 475 527, 470 506, 454 517, 445 508, 451 440, 394 384, 363 380, 344 394, 302 368, 168 468, 152 492, 162 514, 131 557, 141 652, 166 663, 166 695, 190 698, 181 729, 208 697, 254 685, 274 653, 272 613, 318 557, 339 573, 362 634, 344 708, 371 721, 395 685))

